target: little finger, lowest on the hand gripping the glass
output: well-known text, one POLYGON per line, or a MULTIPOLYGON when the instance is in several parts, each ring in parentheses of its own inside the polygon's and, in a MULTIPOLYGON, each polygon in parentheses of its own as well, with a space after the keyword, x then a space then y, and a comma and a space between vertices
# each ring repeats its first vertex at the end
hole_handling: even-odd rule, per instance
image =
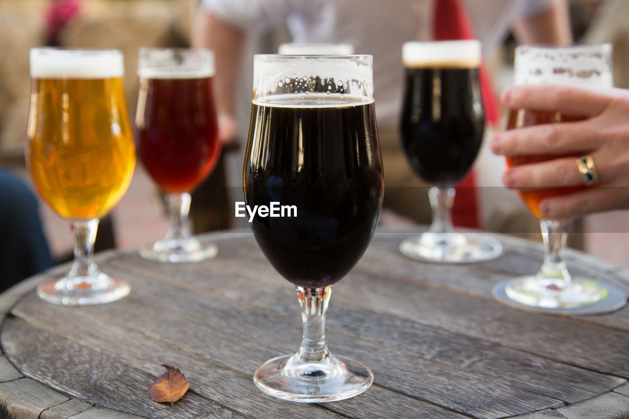
POLYGON ((581 192, 544 199, 540 211, 547 218, 576 218, 611 210, 629 209, 629 187, 597 186, 581 192))

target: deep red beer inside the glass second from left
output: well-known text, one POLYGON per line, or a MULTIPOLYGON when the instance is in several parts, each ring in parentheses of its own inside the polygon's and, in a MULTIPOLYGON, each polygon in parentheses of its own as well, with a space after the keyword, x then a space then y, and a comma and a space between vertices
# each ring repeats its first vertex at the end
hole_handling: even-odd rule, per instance
POLYGON ((167 193, 190 192, 221 152, 212 77, 140 78, 138 155, 167 193))

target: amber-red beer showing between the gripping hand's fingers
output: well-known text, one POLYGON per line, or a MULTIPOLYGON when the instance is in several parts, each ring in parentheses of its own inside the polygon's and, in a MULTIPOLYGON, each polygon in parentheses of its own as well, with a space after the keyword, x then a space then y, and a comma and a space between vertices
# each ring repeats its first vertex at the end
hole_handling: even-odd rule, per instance
MULTIPOLYGON (((550 124, 557 122, 572 122, 577 121, 578 118, 572 116, 561 115, 559 112, 547 112, 547 111, 531 111, 527 109, 520 109, 518 111, 511 111, 509 113, 509 122, 507 124, 507 130, 514 128, 523 128, 525 126, 550 124)), ((582 153, 568 154, 568 155, 518 155, 507 157, 507 167, 517 166, 521 164, 532 164, 538 162, 544 162, 546 160, 559 159, 561 157, 577 157, 582 153)), ((532 213, 538 218, 547 218, 542 216, 540 212, 540 202, 546 198, 552 198, 554 196, 567 195, 581 191, 585 186, 562 186, 562 187, 547 187, 543 189, 528 189, 518 190, 517 193, 526 206, 532 211, 532 213)))

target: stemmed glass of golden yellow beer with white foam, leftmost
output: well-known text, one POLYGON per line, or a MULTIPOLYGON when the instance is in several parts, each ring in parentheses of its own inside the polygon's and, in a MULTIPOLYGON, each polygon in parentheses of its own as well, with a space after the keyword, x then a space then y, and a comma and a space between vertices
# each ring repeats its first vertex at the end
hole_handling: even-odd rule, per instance
POLYGON ((125 194, 135 167, 122 53, 33 48, 30 72, 26 164, 38 193, 74 235, 70 272, 37 293, 64 305, 123 298, 128 284, 92 260, 98 220, 125 194))

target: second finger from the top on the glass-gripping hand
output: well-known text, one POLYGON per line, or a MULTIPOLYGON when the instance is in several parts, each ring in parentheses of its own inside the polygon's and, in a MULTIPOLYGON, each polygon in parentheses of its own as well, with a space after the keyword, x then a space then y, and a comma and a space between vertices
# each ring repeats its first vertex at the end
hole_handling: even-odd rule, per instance
POLYGON ((528 126, 497 133, 489 147, 495 154, 567 154, 599 147, 601 137, 592 121, 528 126))

